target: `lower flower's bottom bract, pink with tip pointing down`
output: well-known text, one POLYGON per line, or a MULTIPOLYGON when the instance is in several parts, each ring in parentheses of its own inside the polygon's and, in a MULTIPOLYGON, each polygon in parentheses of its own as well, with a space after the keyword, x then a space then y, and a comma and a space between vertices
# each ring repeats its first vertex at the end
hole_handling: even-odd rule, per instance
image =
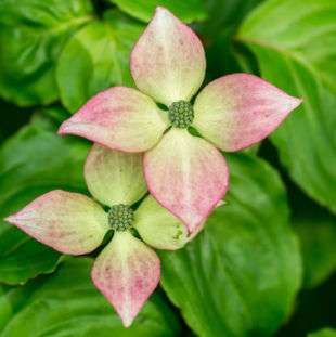
POLYGON ((130 326, 160 278, 157 254, 130 232, 117 232, 94 261, 93 284, 130 326))

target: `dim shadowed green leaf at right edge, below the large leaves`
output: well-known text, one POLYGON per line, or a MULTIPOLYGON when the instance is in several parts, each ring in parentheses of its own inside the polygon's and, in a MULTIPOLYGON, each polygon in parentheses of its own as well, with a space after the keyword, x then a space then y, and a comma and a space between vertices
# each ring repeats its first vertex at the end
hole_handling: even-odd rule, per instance
POLYGON ((303 254, 303 286, 311 288, 336 270, 336 217, 306 209, 293 224, 303 254))

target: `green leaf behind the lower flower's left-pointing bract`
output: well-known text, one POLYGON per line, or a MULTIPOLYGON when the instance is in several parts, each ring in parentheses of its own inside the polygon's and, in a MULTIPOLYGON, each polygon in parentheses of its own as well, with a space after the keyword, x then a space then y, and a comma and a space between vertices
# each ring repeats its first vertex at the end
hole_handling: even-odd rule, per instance
MULTIPOLYGON (((63 118, 64 111, 47 112, 63 118)), ((88 150, 79 139, 60 139, 51 119, 36 116, 0 148, 0 219, 53 189, 86 192, 82 166, 88 150)), ((60 261, 57 251, 2 220, 0 242, 0 282, 23 284, 52 272, 60 261)))

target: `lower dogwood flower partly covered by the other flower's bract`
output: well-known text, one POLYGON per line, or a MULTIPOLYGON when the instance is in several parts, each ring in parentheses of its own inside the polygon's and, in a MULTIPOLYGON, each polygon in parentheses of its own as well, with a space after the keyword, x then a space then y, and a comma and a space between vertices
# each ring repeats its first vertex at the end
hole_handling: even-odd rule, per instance
MULTIPOLYGON (((185 225, 155 199, 146 196, 142 154, 125 154, 94 144, 86 165, 86 195, 54 190, 36 198, 5 220, 54 249, 83 255, 99 247, 106 233, 112 241, 95 259, 91 278, 129 326, 160 278, 160 261, 148 246, 175 250, 183 247, 185 225), (135 229, 141 239, 133 236, 135 229)), ((202 230, 204 223, 197 229, 202 230)))

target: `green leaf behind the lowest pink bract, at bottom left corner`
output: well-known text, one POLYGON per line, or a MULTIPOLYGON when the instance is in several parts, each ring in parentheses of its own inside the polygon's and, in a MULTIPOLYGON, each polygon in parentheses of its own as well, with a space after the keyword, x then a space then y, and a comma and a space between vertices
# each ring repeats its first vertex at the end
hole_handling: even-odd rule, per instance
POLYGON ((113 307, 90 280, 92 261, 72 258, 53 275, 23 287, 2 287, 1 337, 169 337, 179 333, 171 309, 156 294, 132 326, 124 328, 113 307))

